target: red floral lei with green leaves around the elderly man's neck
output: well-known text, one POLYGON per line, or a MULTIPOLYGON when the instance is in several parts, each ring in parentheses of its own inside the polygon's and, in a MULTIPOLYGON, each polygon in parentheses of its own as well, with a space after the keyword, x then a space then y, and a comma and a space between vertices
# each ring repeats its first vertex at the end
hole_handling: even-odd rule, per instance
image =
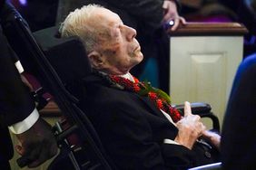
POLYGON ((140 82, 137 78, 133 77, 133 80, 128 80, 120 76, 110 75, 109 80, 115 83, 115 86, 123 90, 133 91, 140 96, 148 96, 158 109, 162 109, 168 113, 173 122, 179 121, 182 116, 178 109, 174 109, 171 106, 171 98, 162 90, 153 88, 148 81, 140 82))

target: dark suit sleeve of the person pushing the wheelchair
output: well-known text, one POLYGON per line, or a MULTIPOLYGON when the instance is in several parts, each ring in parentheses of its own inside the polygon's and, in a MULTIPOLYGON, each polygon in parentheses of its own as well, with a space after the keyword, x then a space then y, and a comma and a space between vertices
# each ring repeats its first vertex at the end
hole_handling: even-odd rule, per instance
POLYGON ((34 100, 15 68, 14 55, 0 25, 0 159, 6 160, 13 156, 7 126, 25 119, 34 110, 34 100))

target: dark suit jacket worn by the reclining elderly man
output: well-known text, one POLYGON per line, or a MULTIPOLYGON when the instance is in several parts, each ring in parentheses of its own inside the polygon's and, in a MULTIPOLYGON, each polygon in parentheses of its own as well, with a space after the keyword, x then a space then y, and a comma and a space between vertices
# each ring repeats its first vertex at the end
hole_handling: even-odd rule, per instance
POLYGON ((80 108, 91 119, 107 154, 119 169, 186 169, 212 163, 201 146, 163 144, 178 129, 146 97, 109 86, 97 76, 84 80, 80 108))

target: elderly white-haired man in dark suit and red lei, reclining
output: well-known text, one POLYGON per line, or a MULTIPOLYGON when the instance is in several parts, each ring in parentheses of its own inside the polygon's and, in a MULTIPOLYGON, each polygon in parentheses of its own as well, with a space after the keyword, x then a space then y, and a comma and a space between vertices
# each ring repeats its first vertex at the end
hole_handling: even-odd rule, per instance
POLYGON ((92 71, 65 85, 92 122, 113 169, 187 169, 220 161, 221 137, 205 129, 190 103, 176 109, 166 93, 129 73, 143 53, 136 31, 117 14, 84 6, 66 17, 60 34, 78 36, 86 49, 92 71))

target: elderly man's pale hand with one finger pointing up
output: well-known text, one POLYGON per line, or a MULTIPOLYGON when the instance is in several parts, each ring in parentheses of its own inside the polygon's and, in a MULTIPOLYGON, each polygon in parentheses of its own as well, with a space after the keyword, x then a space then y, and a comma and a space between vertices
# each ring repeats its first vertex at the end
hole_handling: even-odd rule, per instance
POLYGON ((184 104, 184 118, 176 123, 179 132, 174 141, 192 149, 197 138, 202 136, 205 126, 200 121, 200 116, 192 115, 190 103, 186 101, 184 104))

